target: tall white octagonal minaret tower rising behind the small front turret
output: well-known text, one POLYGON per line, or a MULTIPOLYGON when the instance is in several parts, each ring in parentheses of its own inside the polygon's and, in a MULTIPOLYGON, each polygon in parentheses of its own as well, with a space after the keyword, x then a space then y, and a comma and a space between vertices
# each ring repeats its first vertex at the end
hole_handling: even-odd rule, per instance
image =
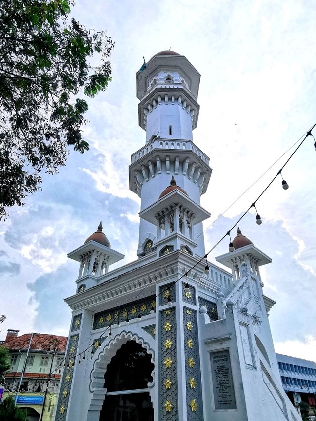
MULTIPOLYGON (((199 105, 200 75, 186 57, 174 51, 154 55, 144 71, 137 72, 139 125, 146 142, 131 157, 130 190, 141 198, 141 212, 155 203, 174 176, 180 188, 198 206, 211 176, 209 158, 193 143, 199 105)), ((189 230, 188 230, 189 232, 189 230)), ((196 254, 205 253, 202 223, 195 225, 196 254)), ((157 226, 141 218, 137 255, 148 241, 158 241, 157 226)), ((192 240, 192 239, 191 239, 192 240)))

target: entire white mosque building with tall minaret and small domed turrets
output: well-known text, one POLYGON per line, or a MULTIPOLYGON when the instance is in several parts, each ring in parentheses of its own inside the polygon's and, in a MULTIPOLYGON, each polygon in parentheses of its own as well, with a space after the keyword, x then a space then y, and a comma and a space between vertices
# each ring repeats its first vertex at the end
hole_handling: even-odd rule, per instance
MULTIPOLYGON (((154 55, 136 75, 145 145, 131 156, 141 199, 137 260, 102 223, 68 257, 79 262, 56 421, 299 421, 283 391, 260 266, 238 228, 207 261, 201 207, 212 174, 193 142, 200 75, 185 56, 154 55)), ((96 224, 97 225, 97 224, 96 224)))

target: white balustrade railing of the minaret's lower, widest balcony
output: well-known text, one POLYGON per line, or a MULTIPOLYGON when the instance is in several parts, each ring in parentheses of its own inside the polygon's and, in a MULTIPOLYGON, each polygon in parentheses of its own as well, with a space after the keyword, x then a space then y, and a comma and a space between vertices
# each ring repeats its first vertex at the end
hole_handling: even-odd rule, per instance
POLYGON ((168 149, 168 150, 186 150, 186 151, 193 151, 197 154, 197 156, 204 161, 206 164, 209 163, 209 157, 205 155, 191 140, 183 140, 183 139, 161 139, 161 138, 154 138, 150 142, 148 142, 143 148, 139 149, 137 152, 133 153, 131 156, 131 163, 138 161, 138 159, 143 158, 147 153, 153 151, 154 149, 168 149))

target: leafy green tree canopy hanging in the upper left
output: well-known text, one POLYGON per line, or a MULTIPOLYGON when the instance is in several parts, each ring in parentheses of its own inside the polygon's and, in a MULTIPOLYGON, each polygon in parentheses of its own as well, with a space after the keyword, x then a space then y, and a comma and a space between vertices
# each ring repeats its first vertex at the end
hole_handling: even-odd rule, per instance
POLYGON ((77 95, 107 87, 114 43, 70 19, 73 4, 0 2, 0 219, 40 188, 42 171, 65 165, 68 146, 89 149, 80 130, 88 105, 77 95))

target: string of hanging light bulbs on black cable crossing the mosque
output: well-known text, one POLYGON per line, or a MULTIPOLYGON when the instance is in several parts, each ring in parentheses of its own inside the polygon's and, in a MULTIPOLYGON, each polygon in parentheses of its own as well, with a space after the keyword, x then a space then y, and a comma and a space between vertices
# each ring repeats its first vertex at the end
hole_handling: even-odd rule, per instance
MULTIPOLYGON (((179 282, 181 279, 183 279, 184 277, 186 278, 186 284, 185 284, 185 291, 189 291, 189 284, 188 284, 188 274, 194 269, 194 268, 196 268, 197 267, 197 265, 199 265, 204 259, 205 259, 205 269, 204 269, 204 273, 205 274, 208 274, 209 273, 209 266, 208 266, 208 263, 207 263, 207 257, 208 257, 208 255, 228 236, 229 237, 229 239, 230 239, 230 243, 229 243, 229 251, 230 252, 234 252, 235 251, 235 249, 234 249, 234 246, 233 246, 233 243, 232 243, 232 240, 231 240, 231 236, 230 236, 230 233, 231 233, 231 230, 233 230, 236 226, 237 226, 237 224, 245 217, 245 215, 252 209, 252 208, 254 208, 255 209, 255 211, 256 211, 256 223, 258 224, 258 225, 260 225, 260 224, 262 224, 262 219, 261 219, 261 217, 260 217, 260 215, 259 215, 259 213, 258 213, 258 211, 257 211, 257 208, 256 208, 256 203, 257 203, 257 201, 262 197, 262 195, 269 189, 269 187, 272 185, 272 183, 276 180, 276 178, 280 175, 281 176, 281 178, 282 178, 282 181, 281 181, 281 184, 282 184, 282 188, 284 189, 284 190, 287 190, 288 188, 289 188, 289 185, 288 185, 288 183, 283 179, 283 176, 282 176, 282 171, 283 171, 283 169, 285 168, 285 166, 288 164, 288 162, 292 159, 292 157, 294 156, 294 154, 298 151, 298 149, 301 147, 301 145, 303 144, 303 142, 306 140, 306 138, 308 137, 308 136, 312 136, 313 137, 313 139, 314 139, 314 148, 315 148, 315 150, 316 150, 316 141, 315 141, 315 138, 314 138, 314 136, 313 136, 313 134, 312 134, 312 130, 315 128, 315 126, 316 126, 316 123, 310 128, 310 130, 308 130, 307 132, 306 132, 306 134, 305 135, 303 135, 303 136, 301 136, 300 137, 300 139, 298 139, 285 153, 283 153, 254 183, 252 183, 240 196, 238 196, 237 197, 237 199, 222 213, 222 214, 220 214, 219 215, 219 217, 215 220, 215 221, 213 221, 212 222, 212 224, 210 224, 210 226, 208 226, 202 233, 204 233, 206 230, 208 230, 221 216, 223 216, 223 214, 225 213, 225 212, 227 212, 227 210, 229 210, 236 202, 237 202, 237 200, 239 200, 254 184, 256 184, 275 164, 276 164, 276 162, 278 162, 290 149, 292 149, 293 148, 293 146, 294 145, 296 145, 302 138, 302 140, 301 140, 301 142, 299 143, 299 145, 297 146, 297 148, 294 150, 294 152, 289 156, 289 158, 286 160, 286 162, 283 164, 283 166, 280 168, 280 170, 276 173, 276 175, 272 178, 272 180, 268 183, 268 185, 264 188, 264 190, 263 191, 261 191, 261 193, 258 195, 258 197, 251 203, 251 205, 248 207, 248 209, 238 218, 238 220, 235 222, 235 224, 230 228, 230 230, 228 230, 218 241, 217 241, 217 243, 203 256, 203 257, 201 257, 201 258, 199 258, 198 260, 197 260, 197 262, 192 266, 192 267, 190 267, 182 276, 180 276, 177 280, 175 280, 175 281, 173 281, 173 282, 171 282, 171 283, 169 283, 166 287, 165 287, 165 289, 161 289, 161 291, 158 293, 158 294, 156 294, 155 295, 155 299, 156 298, 158 298, 160 295, 162 295, 163 293, 165 293, 166 291, 170 291, 170 286, 171 285, 175 285, 177 282, 179 282)), ((202 233, 200 233, 199 234, 199 236, 200 235, 202 235, 202 233)), ((198 237, 199 237, 198 236, 198 237)), ((197 237, 197 238, 198 238, 197 237)), ((196 239, 197 239, 196 238, 196 239)), ((196 241, 196 239, 194 240, 194 241, 196 241)), ((192 241, 192 242, 194 242, 194 241, 192 241)), ((183 252, 181 252, 181 253, 183 253, 183 252)), ((174 261, 175 261, 175 259, 176 259, 177 257, 175 257, 173 260, 172 260, 172 262, 168 265, 168 266, 170 266, 174 261)), ((142 288, 134 297, 133 297, 133 299, 131 300, 131 301, 134 301, 146 288, 148 287, 148 285, 146 285, 144 288, 142 288)), ((170 294, 168 294, 168 297, 167 297, 167 305, 168 306, 172 306, 172 301, 171 301, 171 298, 170 298, 170 294)), ((153 314, 155 312, 155 310, 154 310, 154 302, 153 302, 153 306, 152 306, 152 308, 151 308, 151 310, 150 310, 150 313, 151 314, 153 314)), ((98 339, 96 339, 96 340, 93 340, 92 341, 92 344, 90 344, 86 349, 84 349, 83 351, 81 351, 80 353, 78 353, 77 355, 74 355, 74 356, 65 356, 65 358, 61 361, 61 363, 55 368, 55 370, 52 372, 52 373, 54 373, 55 371, 57 371, 57 370, 59 370, 59 372, 61 371, 60 370, 60 367, 63 365, 64 367, 66 367, 66 365, 68 366, 68 367, 74 367, 74 362, 75 362, 75 359, 77 358, 77 357, 79 357, 79 362, 78 362, 78 364, 80 364, 81 363, 81 355, 83 354, 83 357, 82 357, 82 360, 85 360, 85 354, 89 351, 89 349, 90 348, 92 348, 92 350, 91 350, 91 356, 93 356, 94 355, 94 352, 93 352, 93 347, 100 347, 101 346, 101 339, 102 339, 102 337, 105 335, 105 333, 108 331, 108 330, 110 330, 109 331, 109 334, 108 334, 108 336, 109 337, 111 337, 111 335, 112 335, 112 333, 111 333, 111 325, 113 325, 113 323, 116 321, 116 319, 118 318, 118 322, 117 322, 117 325, 119 326, 120 325, 120 322, 119 322, 119 313, 113 318, 113 319, 111 319, 111 321, 110 321, 110 324, 109 324, 109 326, 107 326, 107 328, 100 334, 100 336, 99 336, 99 338, 98 339), (67 363, 67 359, 68 359, 68 364, 66 364, 67 363), (72 361, 72 363, 71 364, 69 364, 69 361, 72 361)), ((140 312, 138 313, 138 317, 137 317, 137 320, 139 321, 139 320, 141 320, 141 314, 140 314, 140 312)), ((129 324, 129 319, 128 319, 128 315, 127 315, 127 317, 126 317, 126 324, 129 324)))

